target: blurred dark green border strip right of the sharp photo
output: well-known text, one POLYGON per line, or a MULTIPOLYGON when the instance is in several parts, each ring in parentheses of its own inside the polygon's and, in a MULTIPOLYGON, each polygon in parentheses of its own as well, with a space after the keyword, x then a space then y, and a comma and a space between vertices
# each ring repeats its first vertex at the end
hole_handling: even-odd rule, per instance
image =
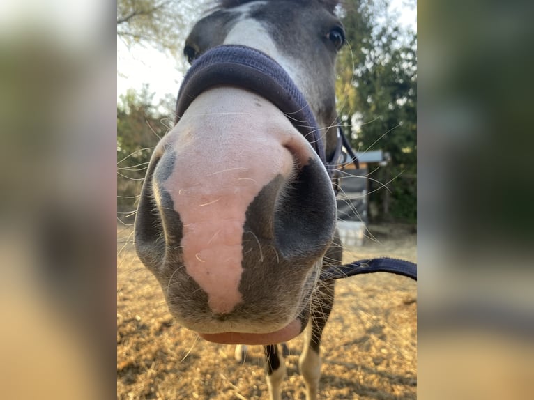
POLYGON ((534 377, 533 5, 420 1, 418 394, 534 377))

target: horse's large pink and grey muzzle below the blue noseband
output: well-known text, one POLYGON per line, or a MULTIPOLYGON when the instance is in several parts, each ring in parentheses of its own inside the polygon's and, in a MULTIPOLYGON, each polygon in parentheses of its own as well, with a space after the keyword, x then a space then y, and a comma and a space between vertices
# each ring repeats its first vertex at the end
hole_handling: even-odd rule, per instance
POLYGON ((257 91, 218 84, 188 93, 148 167, 139 258, 178 322, 206 339, 289 340, 307 323, 335 230, 319 145, 257 91))

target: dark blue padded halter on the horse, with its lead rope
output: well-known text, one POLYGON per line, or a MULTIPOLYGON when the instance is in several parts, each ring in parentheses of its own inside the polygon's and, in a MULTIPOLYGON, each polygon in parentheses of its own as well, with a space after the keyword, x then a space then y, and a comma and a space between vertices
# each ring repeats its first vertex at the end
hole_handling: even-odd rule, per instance
MULTIPOLYGON (((264 52, 241 45, 222 45, 209 49, 192 63, 178 92, 176 121, 202 92, 214 86, 238 86, 258 93, 282 111, 293 126, 307 139, 326 168, 330 179, 340 178, 339 166, 346 163, 346 154, 356 169, 358 157, 341 126, 337 125, 337 144, 329 160, 326 159, 323 139, 315 116, 293 79, 275 60, 264 52)), ((338 185, 334 185, 337 187, 338 185)), ((417 279, 417 266, 409 261, 379 258, 360 260, 344 266, 330 266, 321 272, 320 279, 328 281, 369 272, 390 272, 417 279)))

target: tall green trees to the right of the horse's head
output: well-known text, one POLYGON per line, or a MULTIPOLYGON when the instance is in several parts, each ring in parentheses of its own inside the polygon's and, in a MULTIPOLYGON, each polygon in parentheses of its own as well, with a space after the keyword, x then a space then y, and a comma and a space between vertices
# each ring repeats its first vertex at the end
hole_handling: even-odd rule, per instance
POLYGON ((386 3, 344 2, 346 46, 337 63, 340 115, 351 125, 351 141, 359 151, 382 149, 386 167, 370 178, 369 201, 379 205, 385 220, 415 222, 417 180, 417 38, 402 31, 386 3), (379 189, 374 191, 375 189, 379 189), (373 192, 374 191, 374 192, 373 192))

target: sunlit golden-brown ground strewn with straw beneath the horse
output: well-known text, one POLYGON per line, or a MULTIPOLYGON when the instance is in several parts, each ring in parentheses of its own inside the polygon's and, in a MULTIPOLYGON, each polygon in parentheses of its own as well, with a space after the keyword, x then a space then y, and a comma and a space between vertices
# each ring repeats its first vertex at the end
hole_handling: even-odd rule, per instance
MULTIPOLYGON (((372 256, 417 261, 404 226, 371 226, 374 238, 347 249, 344 263, 372 256)), ((117 399, 268 399, 261 346, 234 360, 235 346, 212 344, 174 323, 155 278, 135 256, 132 229, 118 226, 117 399)), ((417 289, 385 273, 337 281, 323 334, 321 399, 415 399, 417 289)), ((305 399, 298 374, 301 337, 289 342, 282 399, 305 399)))

